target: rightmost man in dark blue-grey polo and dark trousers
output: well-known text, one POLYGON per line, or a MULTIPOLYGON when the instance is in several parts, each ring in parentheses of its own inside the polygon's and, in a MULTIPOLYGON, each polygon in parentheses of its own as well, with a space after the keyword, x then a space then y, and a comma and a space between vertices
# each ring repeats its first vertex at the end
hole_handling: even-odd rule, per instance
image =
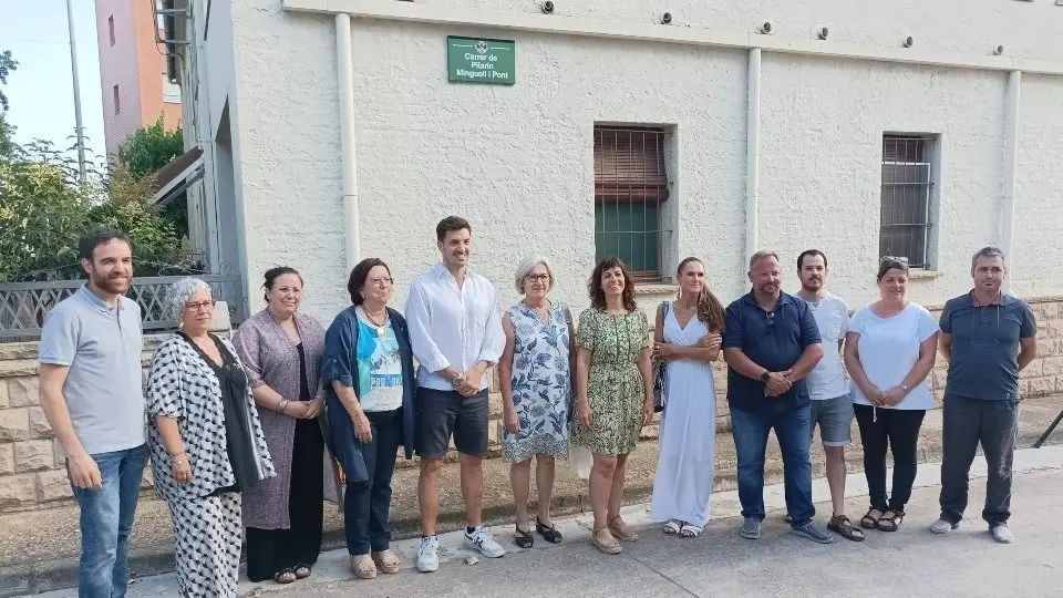
POLYGON ((989 477, 982 518, 997 542, 1015 536, 1011 516, 1011 466, 1019 431, 1019 372, 1038 354, 1038 324, 1030 308, 1001 292, 1004 256, 985 247, 971 260, 974 288, 945 305, 938 348, 949 361, 941 434, 941 518, 930 525, 948 534, 967 508, 971 462, 979 443, 989 477))

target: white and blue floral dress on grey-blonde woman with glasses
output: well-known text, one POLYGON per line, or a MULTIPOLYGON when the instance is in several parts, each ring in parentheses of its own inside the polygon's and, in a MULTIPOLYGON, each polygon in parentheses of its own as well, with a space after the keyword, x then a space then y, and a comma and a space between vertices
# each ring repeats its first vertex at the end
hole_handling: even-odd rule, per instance
POLYGON ((502 436, 502 457, 509 463, 533 455, 568 458, 568 405, 572 396, 568 317, 550 308, 544 322, 523 301, 506 312, 514 328, 513 406, 520 431, 502 436))

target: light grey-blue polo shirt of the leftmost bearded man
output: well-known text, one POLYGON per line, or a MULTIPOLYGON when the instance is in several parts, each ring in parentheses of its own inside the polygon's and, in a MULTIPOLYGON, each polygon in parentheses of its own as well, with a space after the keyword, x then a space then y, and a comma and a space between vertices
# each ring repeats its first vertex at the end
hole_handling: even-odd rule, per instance
POLYGON ((41 331, 41 363, 68 365, 63 396, 91 455, 144 444, 141 308, 115 308, 82 286, 55 306, 41 331))

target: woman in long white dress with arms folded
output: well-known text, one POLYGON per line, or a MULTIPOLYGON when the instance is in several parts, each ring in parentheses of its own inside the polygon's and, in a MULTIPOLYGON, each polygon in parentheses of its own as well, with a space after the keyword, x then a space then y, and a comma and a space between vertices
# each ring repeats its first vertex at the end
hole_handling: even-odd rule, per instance
POLYGON ((661 303, 653 330, 653 358, 665 362, 660 457, 653 482, 652 518, 664 533, 694 537, 709 523, 716 439, 712 362, 720 354, 724 310, 705 285, 698 258, 679 265, 680 296, 661 303))

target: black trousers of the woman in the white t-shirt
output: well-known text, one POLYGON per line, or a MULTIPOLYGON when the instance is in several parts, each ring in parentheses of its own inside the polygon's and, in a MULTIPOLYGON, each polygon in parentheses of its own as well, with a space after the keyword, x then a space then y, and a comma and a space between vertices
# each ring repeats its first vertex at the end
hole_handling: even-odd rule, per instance
POLYGON ((853 405, 864 442, 864 475, 870 494, 870 508, 904 513, 916 482, 916 446, 922 410, 875 409, 853 405), (894 453, 894 485, 886 496, 886 451, 894 453))

